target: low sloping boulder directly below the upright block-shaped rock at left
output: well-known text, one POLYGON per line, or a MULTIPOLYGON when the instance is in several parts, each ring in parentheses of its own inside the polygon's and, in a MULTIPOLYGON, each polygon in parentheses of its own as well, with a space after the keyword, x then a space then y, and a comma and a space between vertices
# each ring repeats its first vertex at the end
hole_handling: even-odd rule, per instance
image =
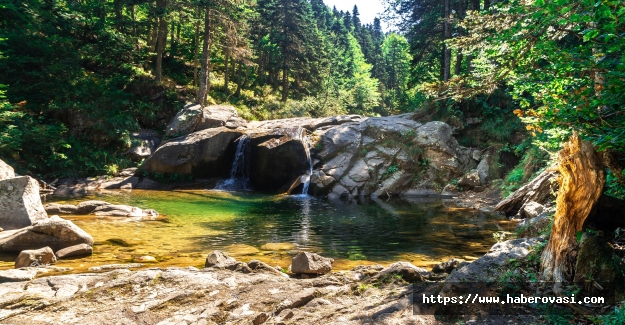
POLYGON ((0 237, 0 251, 4 252, 21 252, 45 246, 57 251, 78 244, 93 245, 93 237, 59 216, 40 220, 30 227, 0 237))

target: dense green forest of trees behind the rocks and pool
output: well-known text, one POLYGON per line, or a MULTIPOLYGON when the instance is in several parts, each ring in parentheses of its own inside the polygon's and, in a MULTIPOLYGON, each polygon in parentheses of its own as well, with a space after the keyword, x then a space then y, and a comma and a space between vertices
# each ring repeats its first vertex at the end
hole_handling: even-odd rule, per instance
POLYGON ((136 164, 130 133, 162 133, 187 102, 248 120, 414 112, 497 150, 508 192, 579 132, 625 196, 621 1, 385 4, 363 23, 322 0, 0 1, 0 156, 115 174, 136 164))

